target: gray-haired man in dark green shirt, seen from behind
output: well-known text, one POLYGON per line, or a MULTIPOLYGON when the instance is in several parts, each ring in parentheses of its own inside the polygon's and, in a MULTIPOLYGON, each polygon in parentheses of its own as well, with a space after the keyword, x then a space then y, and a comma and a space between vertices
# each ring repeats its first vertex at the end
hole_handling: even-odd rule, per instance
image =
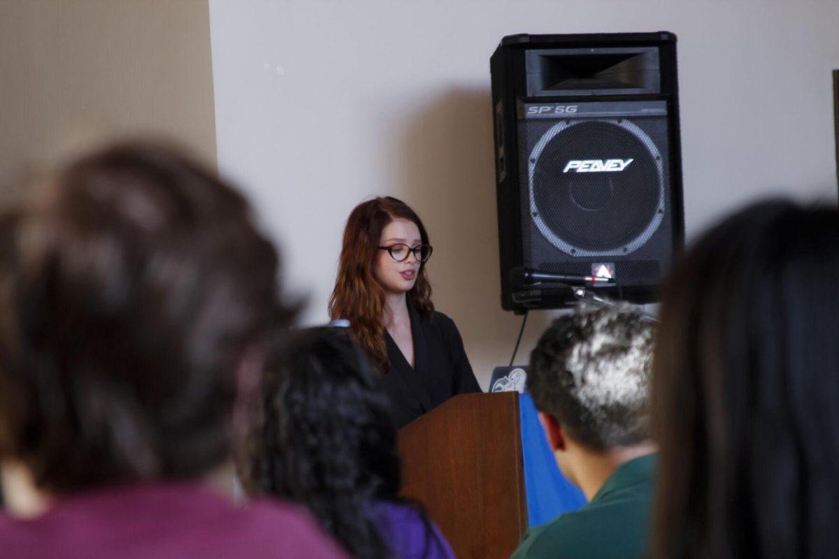
POLYGON ((542 334, 527 391, 556 463, 589 502, 528 531, 515 559, 644 556, 655 467, 653 333, 649 318, 622 305, 577 308, 542 334))

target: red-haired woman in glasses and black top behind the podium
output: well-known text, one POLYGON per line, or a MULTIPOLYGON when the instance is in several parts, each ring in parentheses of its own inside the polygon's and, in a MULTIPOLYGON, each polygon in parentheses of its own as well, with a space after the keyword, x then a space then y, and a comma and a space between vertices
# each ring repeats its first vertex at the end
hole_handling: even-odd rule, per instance
POLYGON ((480 392, 455 323, 437 313, 420 217, 390 196, 358 204, 344 230, 331 318, 347 318, 403 427, 451 396, 480 392))

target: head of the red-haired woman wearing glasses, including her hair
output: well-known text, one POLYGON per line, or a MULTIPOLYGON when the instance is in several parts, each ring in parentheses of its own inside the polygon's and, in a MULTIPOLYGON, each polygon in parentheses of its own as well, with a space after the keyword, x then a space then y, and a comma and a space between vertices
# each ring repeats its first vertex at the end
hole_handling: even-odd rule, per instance
POLYGON ((421 316, 434 313, 425 272, 430 256, 425 226, 402 200, 367 200, 347 219, 329 313, 352 323, 357 343, 378 370, 389 365, 383 319, 388 293, 405 293, 421 316))

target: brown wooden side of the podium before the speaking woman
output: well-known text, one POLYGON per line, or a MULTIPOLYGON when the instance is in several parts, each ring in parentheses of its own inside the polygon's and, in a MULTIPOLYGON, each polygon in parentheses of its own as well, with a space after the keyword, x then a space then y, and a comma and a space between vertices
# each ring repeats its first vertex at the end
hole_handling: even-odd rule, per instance
POLYGON ((403 494, 461 559, 507 558, 527 529, 519 393, 464 394, 399 430, 403 494))

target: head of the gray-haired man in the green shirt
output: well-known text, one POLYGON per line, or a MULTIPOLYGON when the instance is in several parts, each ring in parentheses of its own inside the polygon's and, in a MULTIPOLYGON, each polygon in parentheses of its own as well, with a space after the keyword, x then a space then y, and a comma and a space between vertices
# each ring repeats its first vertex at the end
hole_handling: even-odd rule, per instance
POLYGON ((550 448, 589 500, 620 464, 654 451, 653 334, 633 306, 586 305, 556 318, 530 354, 527 391, 550 448))

